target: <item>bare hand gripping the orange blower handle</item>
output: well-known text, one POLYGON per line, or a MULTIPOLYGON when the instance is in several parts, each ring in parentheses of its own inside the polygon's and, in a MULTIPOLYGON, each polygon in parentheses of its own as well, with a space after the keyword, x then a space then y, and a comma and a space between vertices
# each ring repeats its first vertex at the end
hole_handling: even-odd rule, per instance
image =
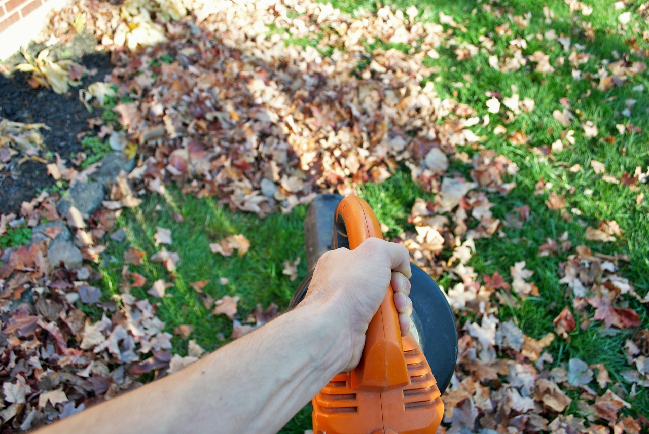
POLYGON ((365 332, 391 285, 401 335, 410 329, 410 256, 402 245, 378 238, 363 241, 354 250, 326 252, 315 265, 301 305, 321 306, 339 334, 341 358, 350 370, 360 361, 365 332))

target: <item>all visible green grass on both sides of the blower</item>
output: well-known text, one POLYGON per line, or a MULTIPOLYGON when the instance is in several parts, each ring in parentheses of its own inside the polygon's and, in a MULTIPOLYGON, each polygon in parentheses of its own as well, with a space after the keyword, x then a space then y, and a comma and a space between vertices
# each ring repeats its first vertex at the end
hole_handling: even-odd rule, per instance
MULTIPOLYGON (((334 6, 350 13, 360 8, 365 11, 375 11, 377 8, 377 3, 373 0, 343 0, 333 3, 334 6)), ((591 80, 573 80, 572 67, 568 60, 563 66, 556 66, 556 71, 552 74, 537 73, 533 66, 522 67, 519 71, 511 73, 502 73, 489 66, 489 54, 502 58, 511 53, 509 40, 524 38, 530 34, 543 34, 549 29, 556 30, 559 35, 570 36, 573 44, 585 45, 583 52, 592 58, 580 66, 584 74, 596 73, 602 62, 617 60, 614 52, 620 55, 628 54, 631 60, 639 60, 635 54, 630 53, 629 45, 625 42, 633 35, 630 32, 617 33, 618 13, 611 13, 612 6, 609 3, 611 2, 595 6, 591 16, 581 16, 579 13, 570 15, 569 6, 563 1, 502 1, 489 4, 491 12, 485 10, 485 3, 471 0, 461 3, 448 0, 391 3, 402 9, 409 5, 417 5, 420 10, 419 17, 424 20, 439 22, 439 12, 454 16, 458 23, 467 27, 466 32, 454 30, 454 38, 458 43, 480 46, 481 36, 493 38, 494 46, 490 53, 480 51, 467 60, 457 60, 454 47, 441 46, 437 49, 439 59, 426 59, 426 66, 435 67, 437 72, 425 78, 424 83, 434 80, 439 97, 469 104, 478 110, 480 116, 487 114, 487 91, 495 91, 509 97, 512 94, 512 86, 515 86, 521 99, 529 97, 535 101, 532 112, 517 115, 511 123, 505 124, 499 115, 490 114, 491 123, 488 126, 473 127, 478 136, 486 137, 481 143, 482 147, 507 156, 517 163, 520 169, 517 175, 508 179, 517 183, 511 193, 504 196, 489 193, 489 199, 495 203, 492 208, 494 217, 506 221, 508 214, 514 213, 516 208, 523 205, 530 206, 532 213, 530 219, 520 228, 502 228, 504 237, 476 240, 476 254, 469 262, 478 273, 478 280, 485 274, 491 275, 498 271, 511 281, 509 267, 520 260, 525 260, 526 268, 535 272, 532 282, 539 287, 540 296, 529 296, 525 300, 517 300, 511 306, 500 306, 497 313, 502 321, 513 319, 530 337, 540 338, 545 333, 553 332, 552 320, 563 307, 572 306, 572 294, 566 285, 559 283, 558 271, 559 264, 566 261, 569 254, 574 252, 574 248, 557 256, 539 257, 538 249, 548 237, 556 240, 567 232, 573 246, 585 244, 594 252, 627 254, 631 260, 622 263, 620 275, 628 278, 640 295, 644 296, 649 291, 649 276, 646 274, 649 269, 649 244, 645 241, 646 234, 649 233, 649 189, 646 184, 638 185, 637 191, 631 191, 629 187, 620 184, 610 184, 590 168, 591 160, 598 160, 605 163, 607 173, 616 178, 620 178, 623 173, 632 175, 637 165, 646 170, 649 162, 649 148, 646 146, 649 142, 646 132, 649 128, 649 100, 643 98, 642 93, 634 91, 633 86, 643 84, 645 88, 649 88, 647 73, 631 77, 622 86, 599 91, 593 87, 591 80), (548 5, 555 14, 549 24, 544 23, 544 5, 548 5), (502 14, 498 16, 496 12, 502 14), (509 18, 528 12, 532 19, 523 30, 518 29, 509 18), (496 35, 494 30, 505 23, 510 24, 512 32, 511 36, 506 38, 496 35), (583 23, 592 24, 593 40, 587 37, 582 28, 583 23), (552 117, 553 110, 562 109, 563 98, 576 114, 576 119, 567 128, 562 127, 552 117), (630 117, 622 114, 628 99, 638 100, 631 110, 630 117), (612 136, 613 143, 587 138, 581 128, 581 121, 585 120, 591 120, 597 125, 599 137, 612 136), (639 126, 641 132, 620 135, 616 128, 618 123, 639 126), (493 134, 493 128, 498 124, 506 125, 510 133, 522 130, 529 138, 528 143, 514 145, 506 136, 496 136, 493 134), (574 130, 574 145, 566 146, 564 151, 552 156, 541 156, 535 152, 561 138, 562 130, 569 129, 574 130), (568 168, 574 164, 582 165, 582 170, 577 173, 569 171, 568 168), (552 182, 554 186, 536 195, 535 184, 541 178, 545 182, 552 182), (546 207, 545 200, 550 191, 565 195, 570 219, 564 219, 559 212, 546 207), (635 198, 641 192, 646 195, 646 199, 637 205, 635 198), (585 239, 587 226, 596 226, 601 220, 613 219, 624 230, 622 239, 615 243, 598 243, 585 239)), ((639 26, 645 30, 649 28, 645 22, 639 23, 639 26)), ((271 28, 269 34, 285 31, 271 28)), ((312 38, 289 37, 286 43, 317 47, 321 38, 320 34, 315 34, 312 38)), ((537 50, 542 51, 550 55, 552 65, 555 65, 559 57, 567 58, 570 54, 570 51, 565 51, 556 41, 530 38, 527 43, 528 47, 523 49, 524 56, 537 50)), ((644 49, 648 47, 644 41, 638 43, 644 49)), ((404 53, 417 50, 416 46, 391 45, 377 40, 373 44, 367 44, 367 53, 358 65, 358 70, 369 64, 373 51, 391 47, 404 53)), ((324 55, 333 50, 331 47, 318 49, 324 55)), ((110 114, 106 114, 107 112, 114 112, 110 106, 104 111, 107 117, 104 121, 110 123, 113 119, 110 114)), ((478 149, 463 147, 459 151, 472 155, 478 149)), ((452 164, 452 171, 468 175, 469 165, 458 162, 452 164)), ((153 300, 158 302, 158 315, 167 322, 169 332, 179 324, 192 324, 195 329, 190 339, 196 339, 204 348, 214 350, 227 341, 218 339, 217 335, 222 333, 227 338, 231 332, 231 322, 223 316, 211 315, 210 309, 203 306, 201 296, 189 283, 209 279, 210 284, 204 289, 204 293, 214 298, 227 294, 240 296, 241 319, 258 303, 265 307, 275 302, 280 308, 285 308, 297 282, 289 282, 288 277, 282 274, 283 261, 293 260, 304 254, 302 219, 305 210, 296 208, 289 215, 274 214, 260 220, 251 215, 229 211, 215 199, 195 199, 184 197, 175 189, 169 191, 169 197, 151 197, 139 210, 125 211, 120 217, 119 226, 125 228, 127 238, 123 243, 110 241, 102 267, 104 288, 109 292, 117 291, 125 250, 134 246, 145 251, 147 258, 150 258, 156 252, 153 241, 156 226, 171 229, 174 243, 167 248, 180 255, 176 276, 172 278, 162 265, 145 260, 141 267, 130 267, 130 271, 140 272, 147 278, 145 287, 135 289, 134 292, 138 297, 153 300, 145 291, 154 280, 164 278, 173 281, 175 287, 167 291, 171 297, 153 300), (161 209, 156 211, 156 206, 161 209), (173 219, 174 213, 177 212, 184 217, 184 223, 177 223, 173 219), (239 233, 249 237, 252 243, 251 250, 242 258, 223 258, 210 252, 210 243, 239 233), (260 235, 254 238, 252 234, 260 235), (268 239, 272 241, 264 241, 268 239), (219 285, 217 281, 220 277, 227 277, 228 285, 219 285)), ((415 199, 421 197, 432 200, 434 197, 432 193, 421 191, 410 179, 410 173, 403 168, 397 169, 395 175, 380 186, 362 186, 360 194, 373 206, 378 219, 388 226, 388 237, 395 237, 404 230, 413 230, 413 226, 408 223, 408 215, 415 199)), ((442 252, 440 256, 447 258, 450 253, 442 252)), ((299 267, 300 278, 305 273, 305 261, 303 257, 302 259, 299 267)), ((436 278, 445 288, 454 284, 448 275, 436 278)), ((626 303, 640 314, 643 328, 646 328, 649 324, 646 307, 631 298, 626 299, 626 303)), ((592 316, 593 309, 587 307, 585 312, 587 316, 592 316)), ((457 315, 461 324, 476 320, 475 313, 469 311, 458 311, 457 315)), ((577 320, 580 320, 579 315, 577 320)), ((631 368, 626 362, 623 347, 626 339, 630 339, 634 332, 604 330, 598 321, 593 322, 586 330, 578 327, 570 332, 570 341, 557 337, 550 345, 548 350, 554 361, 548 368, 565 364, 573 357, 588 364, 604 363, 610 372, 611 380, 618 383, 616 392, 633 405, 632 409, 623 409, 622 413, 633 416, 646 415, 649 413, 649 392, 639 388, 635 396, 627 396, 631 385, 621 376, 622 371, 631 368)), ((186 340, 175 337, 173 344, 175 351, 184 354, 186 340)), ((598 389, 594 382, 591 387, 600 394, 604 392, 598 389)), ((578 391, 569 391, 569 394, 572 398, 579 396, 578 391)), ((301 434, 304 429, 310 429, 309 412, 309 406, 305 407, 282 432, 301 434)), ((584 416, 577 406, 576 399, 565 413, 584 416)))

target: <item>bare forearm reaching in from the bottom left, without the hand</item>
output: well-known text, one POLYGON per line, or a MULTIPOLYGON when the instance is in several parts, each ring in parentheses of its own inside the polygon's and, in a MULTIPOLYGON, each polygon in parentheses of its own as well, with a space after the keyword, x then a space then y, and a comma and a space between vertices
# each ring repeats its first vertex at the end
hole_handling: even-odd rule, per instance
POLYGON ((322 309, 304 306, 190 367, 40 434, 275 433, 348 362, 322 309))

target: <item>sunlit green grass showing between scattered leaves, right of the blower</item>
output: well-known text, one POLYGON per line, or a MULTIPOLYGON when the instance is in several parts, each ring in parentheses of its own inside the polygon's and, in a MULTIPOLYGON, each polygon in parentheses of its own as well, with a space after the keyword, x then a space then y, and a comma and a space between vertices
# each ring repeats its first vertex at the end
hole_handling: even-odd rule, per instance
MULTIPOLYGON (((561 1, 502 1, 491 3, 492 12, 484 9, 484 3, 476 1, 451 2, 451 1, 393 1, 389 2, 393 8, 404 10, 407 6, 416 5, 419 8, 419 18, 439 22, 439 12, 454 16, 458 23, 463 23, 467 31, 454 30, 453 36, 458 43, 472 43, 480 47, 480 37, 493 38, 494 47, 491 53, 480 51, 467 60, 457 60, 454 53, 455 47, 442 45, 437 49, 439 59, 426 58, 426 66, 435 67, 437 72, 424 79, 434 80, 435 90, 442 99, 455 99, 458 102, 469 104, 478 115, 487 114, 485 101, 489 96, 487 91, 496 91, 504 97, 509 97, 517 88, 520 99, 530 97, 535 101, 535 108, 529 114, 522 113, 516 119, 506 124, 497 114, 490 114, 491 123, 487 127, 476 126, 472 128, 478 136, 486 136, 482 146, 494 149, 517 163, 519 173, 509 180, 517 182, 517 187, 506 196, 490 195, 490 200, 495 203, 492 208, 494 217, 501 220, 506 215, 513 213, 515 208, 527 204, 532 210, 532 215, 522 228, 516 230, 503 228, 504 237, 476 240, 476 255, 469 265, 474 267, 480 276, 493 274, 498 271, 504 276, 509 275, 509 266, 522 259, 526 260, 526 268, 535 272, 532 280, 539 287, 541 296, 528 297, 517 306, 502 306, 498 312, 501 320, 513 319, 522 328, 526 335, 539 338, 547 332, 554 330, 552 320, 559 314, 564 306, 572 306, 572 294, 565 285, 559 283, 559 263, 567 259, 568 254, 557 256, 539 257, 537 252, 540 245, 547 237, 558 239, 563 232, 569 233, 569 240, 573 246, 588 245, 594 252, 606 254, 627 254, 631 260, 622 263, 620 274, 628 278, 636 291, 645 295, 649 291, 649 277, 646 269, 649 266, 649 245, 644 242, 649 233, 649 204, 645 199, 640 205, 635 203, 639 193, 649 195, 646 184, 639 184, 636 191, 622 185, 609 184, 596 175, 590 168, 591 160, 598 160, 606 164, 607 173, 620 178, 623 173, 633 175, 635 167, 640 165, 646 171, 649 161, 649 141, 647 131, 647 111, 649 100, 643 97, 643 92, 633 90, 633 86, 644 85, 649 88, 648 74, 643 73, 630 77, 622 86, 615 86, 607 91, 594 88, 591 80, 573 80, 572 67, 568 60, 563 66, 555 66, 552 74, 541 74, 533 71, 533 66, 522 67, 519 71, 502 73, 489 66, 489 54, 498 58, 508 56, 511 52, 508 41, 530 34, 543 34, 546 30, 554 29, 561 36, 570 36, 572 44, 585 45, 584 53, 591 55, 585 65, 580 66, 583 73, 596 73, 603 62, 617 60, 615 52, 619 55, 628 55, 631 61, 642 60, 636 54, 630 53, 627 38, 633 33, 617 33, 617 16, 624 10, 611 13, 611 5, 593 5, 594 12, 591 16, 581 16, 579 12, 570 15, 569 7, 561 1), (544 23, 543 6, 547 5, 555 14, 551 23, 544 23), (494 12, 502 14, 496 16, 494 12), (510 16, 530 13, 532 19, 526 29, 520 30, 509 19, 510 16), (589 39, 580 25, 592 23, 594 39, 589 39), (495 34, 495 27, 509 23, 512 35, 506 38, 495 34), (561 99, 572 106, 576 119, 569 127, 561 126, 552 117, 553 110, 562 110, 561 99), (631 110, 630 117, 622 114, 628 99, 637 102, 631 110), (601 139, 589 139, 583 134, 581 122, 591 120, 598 127, 598 137, 613 136, 615 141, 607 143, 601 139), (495 125, 503 123, 508 132, 522 130, 528 135, 527 145, 513 145, 505 136, 493 134, 495 125), (635 125, 641 127, 641 132, 633 132, 620 136, 616 124, 635 125), (574 130, 576 142, 565 147, 563 152, 552 154, 550 157, 538 156, 535 148, 550 145, 561 138, 562 130, 574 130), (572 173, 568 170, 574 164, 582 165, 582 170, 572 173), (543 178, 545 182, 552 182, 554 187, 541 195, 535 195, 535 184, 543 178), (592 192, 590 192, 591 190, 592 192), (549 210, 545 200, 550 191, 558 195, 565 195, 566 208, 571 215, 567 221, 557 211, 549 210), (586 226, 596 226, 602 220, 615 220, 624 230, 622 239, 615 243, 598 243, 587 241, 584 238, 586 226)), ((374 1, 334 1, 333 5, 352 14, 361 14, 365 11, 375 11, 378 4, 374 1), (358 11, 361 12, 358 12, 358 11)), ((628 9, 633 10, 633 9, 628 9)), ((646 22, 638 19, 641 30, 649 28, 646 22)), ((445 26, 448 29, 448 26, 445 26)), ((550 64, 554 65, 557 58, 567 58, 570 51, 565 51, 561 44, 552 40, 537 40, 528 38, 528 47, 522 54, 530 55, 535 51, 542 51, 550 55, 550 64)), ((648 44, 639 42, 646 49, 648 44)), ((397 48, 404 53, 410 47, 402 47, 383 41, 376 41, 367 45, 369 54, 358 68, 369 64, 371 53, 374 50, 397 48)), ((416 47, 415 47, 416 49, 416 47)), ((595 80, 595 84, 596 84, 595 80)), ((441 120, 443 122, 443 119, 441 120)), ((469 155, 474 154, 474 147, 462 147, 469 155)), ((461 173, 466 172, 460 169, 461 173)), ((406 221, 410 207, 416 197, 430 200, 426 193, 417 191, 408 175, 397 172, 391 180, 382 186, 364 186, 363 194, 370 204, 375 207, 379 219, 382 219, 391 229, 389 235, 395 235, 400 230, 409 228, 406 221)), ((441 256, 445 253, 443 252, 441 256)), ((441 285, 448 285, 451 280, 448 276, 438 276, 441 285)), ((629 307, 641 315, 643 327, 649 324, 646 307, 636 300, 627 299, 629 307)), ((592 315, 592 309, 587 308, 587 315, 592 315)), ((474 316, 467 312, 458 312, 461 322, 474 320, 474 316)), ((579 320, 579 318, 578 318, 579 320)), ((615 331, 604 333, 600 322, 595 321, 587 330, 576 328, 570 333, 570 343, 557 338, 549 350, 554 356, 554 363, 550 368, 561 363, 566 363, 572 357, 583 359, 586 363, 604 363, 611 372, 614 382, 620 384, 622 394, 630 390, 628 384, 620 375, 625 369, 631 368, 626 363, 626 356, 622 347, 626 339, 630 339, 633 330, 615 331)), ((647 414, 649 412, 649 394, 642 389, 635 397, 628 398, 633 405, 631 415, 647 414)), ((596 389, 598 390, 598 389, 596 389)), ((604 392, 604 391, 600 391, 604 392)), ((577 398, 578 396, 574 396, 577 398)), ((576 402, 567 411, 567 414, 580 414, 576 402)), ((583 416, 583 415, 582 415, 583 416)))

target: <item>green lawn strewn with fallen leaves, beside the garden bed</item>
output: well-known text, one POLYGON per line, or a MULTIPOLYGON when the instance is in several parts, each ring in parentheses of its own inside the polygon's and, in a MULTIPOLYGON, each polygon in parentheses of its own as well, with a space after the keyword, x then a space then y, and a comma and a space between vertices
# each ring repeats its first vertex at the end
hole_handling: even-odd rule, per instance
MULTIPOLYGON (((115 51, 104 117, 140 138, 143 201, 112 214, 123 237, 101 238, 93 265, 104 304, 80 309, 96 322, 130 285, 173 354, 215 350, 257 306, 288 306, 312 193, 358 194, 454 307, 448 432, 646 432, 648 8, 251 4, 197 7, 168 42, 115 51), (142 139, 156 125, 166 136, 142 139), (213 252, 239 234, 243 254, 213 252), (154 260, 163 245, 175 269, 154 260)), ((10 234, 0 249, 24 238, 10 234)), ((310 428, 309 404, 281 432, 310 428)))

